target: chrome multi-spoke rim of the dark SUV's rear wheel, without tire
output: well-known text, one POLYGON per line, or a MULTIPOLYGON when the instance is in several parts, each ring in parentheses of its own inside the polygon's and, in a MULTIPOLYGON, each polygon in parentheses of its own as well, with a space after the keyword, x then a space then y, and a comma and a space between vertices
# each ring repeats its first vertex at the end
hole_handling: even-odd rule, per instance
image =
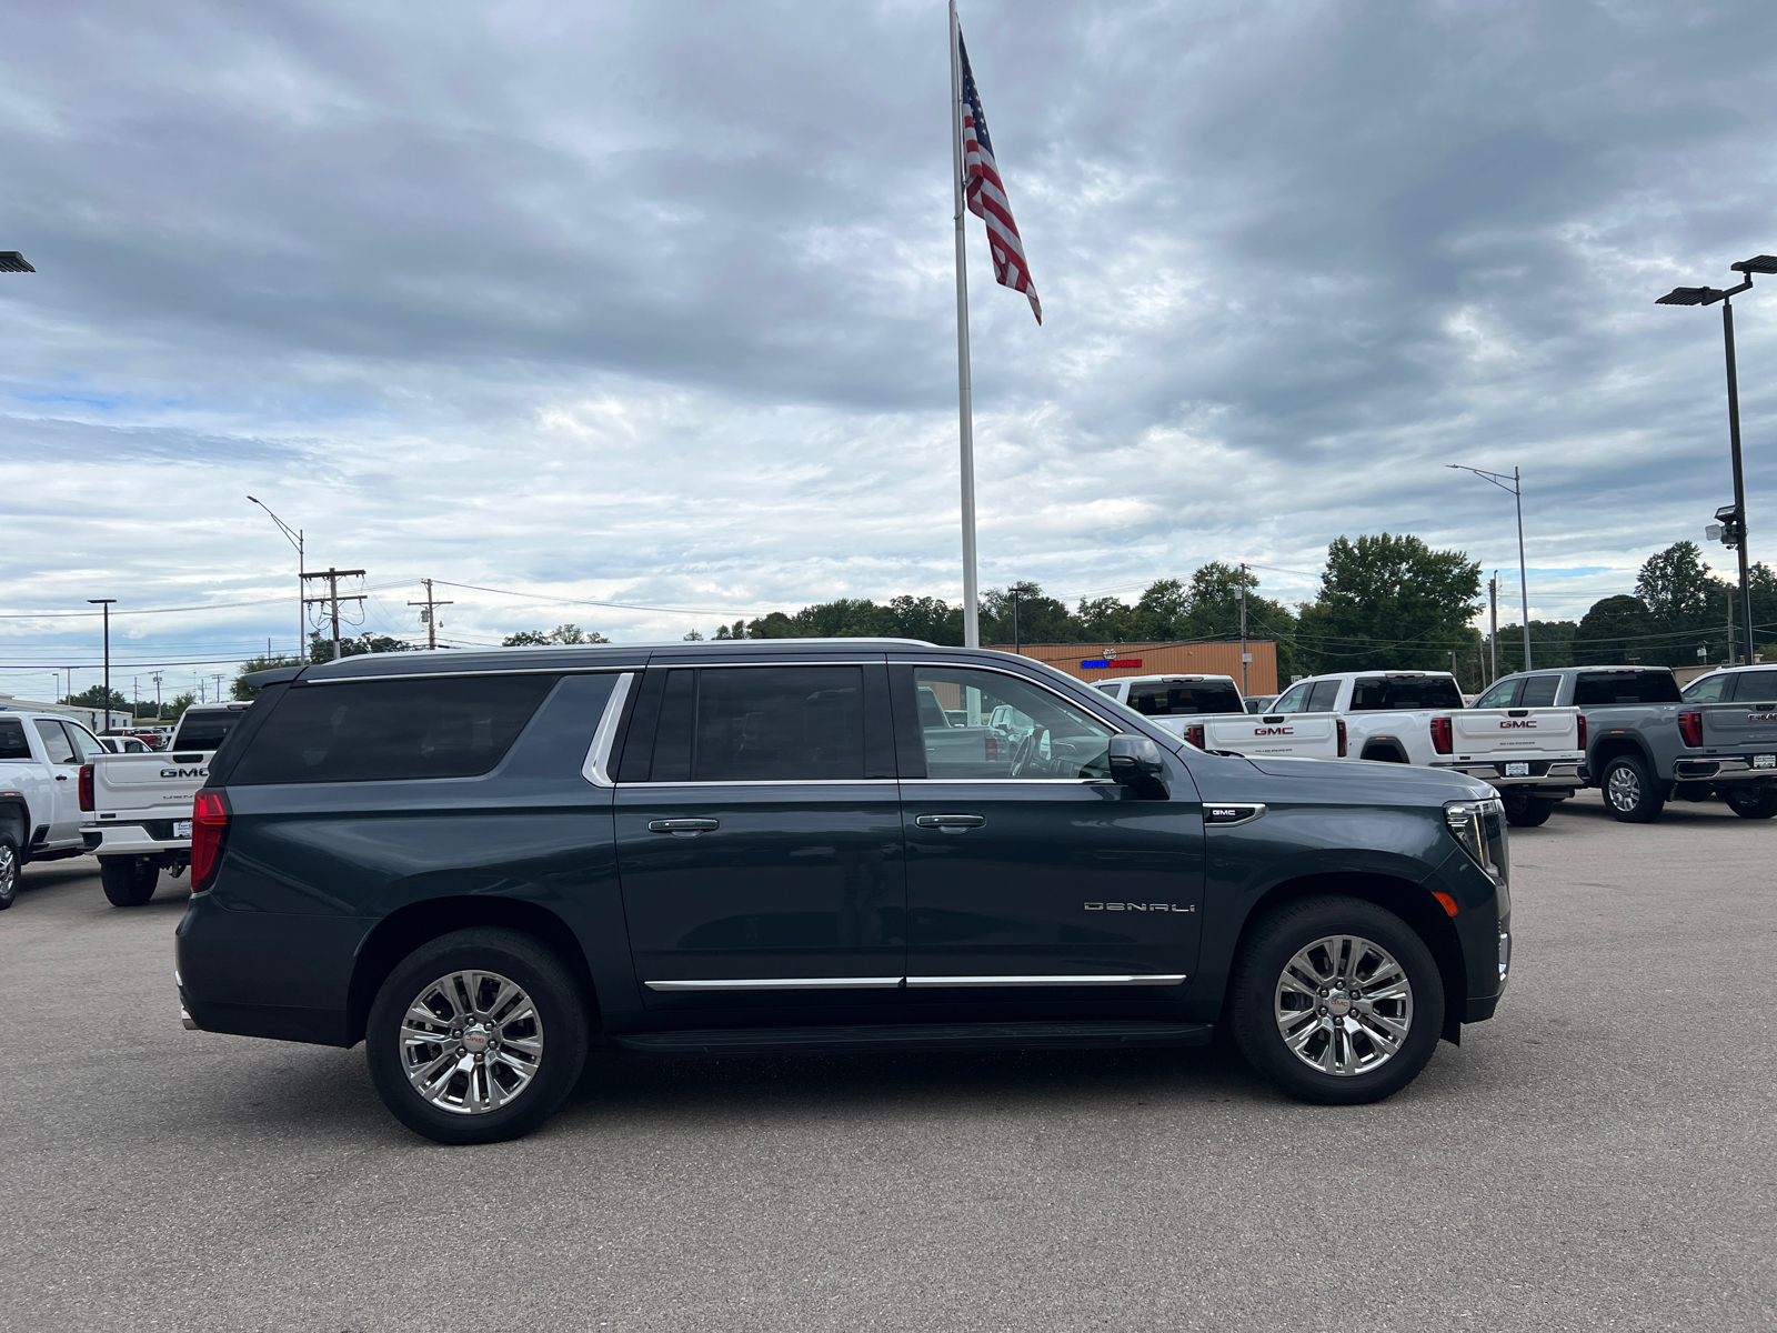
POLYGON ((439 1111, 487 1114, 521 1097, 544 1058, 544 1022, 498 972, 451 972, 402 1018, 402 1068, 439 1111))

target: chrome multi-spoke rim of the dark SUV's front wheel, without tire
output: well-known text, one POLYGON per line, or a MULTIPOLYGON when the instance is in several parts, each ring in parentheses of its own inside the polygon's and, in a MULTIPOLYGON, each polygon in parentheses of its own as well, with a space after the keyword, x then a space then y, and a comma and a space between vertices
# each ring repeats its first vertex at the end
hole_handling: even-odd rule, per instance
POLYGON ((1322 1074, 1368 1074, 1386 1065, 1413 1029, 1413 983, 1393 954, 1359 935, 1327 935, 1283 967, 1278 1033, 1295 1058, 1322 1074))

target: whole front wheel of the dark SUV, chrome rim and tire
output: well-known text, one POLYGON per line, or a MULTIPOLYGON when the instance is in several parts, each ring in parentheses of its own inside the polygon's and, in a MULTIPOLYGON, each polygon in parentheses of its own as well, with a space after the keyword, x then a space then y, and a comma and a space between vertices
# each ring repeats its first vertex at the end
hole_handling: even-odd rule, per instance
POLYGON ((1354 1106, 1406 1088, 1443 1031, 1443 978, 1393 912, 1306 898, 1258 924, 1228 994, 1247 1063, 1304 1102, 1354 1106))

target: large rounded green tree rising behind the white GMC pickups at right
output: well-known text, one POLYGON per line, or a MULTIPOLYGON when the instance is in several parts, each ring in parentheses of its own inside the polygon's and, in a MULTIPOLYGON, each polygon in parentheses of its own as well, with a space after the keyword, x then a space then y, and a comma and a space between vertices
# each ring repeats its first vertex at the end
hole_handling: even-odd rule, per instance
POLYGON ((1448 670, 1473 656, 1480 563, 1418 537, 1340 537, 1320 595, 1303 606, 1297 652, 1313 672, 1359 666, 1448 670))

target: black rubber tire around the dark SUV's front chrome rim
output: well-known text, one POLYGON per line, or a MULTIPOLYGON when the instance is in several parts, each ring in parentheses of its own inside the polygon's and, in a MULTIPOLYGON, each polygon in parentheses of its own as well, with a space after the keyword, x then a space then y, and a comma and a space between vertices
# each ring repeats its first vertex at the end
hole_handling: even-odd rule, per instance
MULTIPOLYGON (((1372 969, 1370 976, 1377 972, 1372 969)), ((1267 915, 1247 938, 1228 988, 1228 1020, 1246 1061, 1292 1097, 1322 1106, 1381 1102, 1406 1088, 1432 1058, 1443 1015, 1443 978, 1430 949, 1393 912, 1361 898, 1304 898, 1267 915), (1311 1066, 1285 1043, 1276 1018, 1276 997, 1290 960, 1313 942, 1340 935, 1361 937, 1386 949, 1411 986, 1407 1034, 1391 1056, 1368 1072, 1331 1074, 1311 1066)), ((1310 1017, 1304 1011, 1304 1018, 1310 1017)))

